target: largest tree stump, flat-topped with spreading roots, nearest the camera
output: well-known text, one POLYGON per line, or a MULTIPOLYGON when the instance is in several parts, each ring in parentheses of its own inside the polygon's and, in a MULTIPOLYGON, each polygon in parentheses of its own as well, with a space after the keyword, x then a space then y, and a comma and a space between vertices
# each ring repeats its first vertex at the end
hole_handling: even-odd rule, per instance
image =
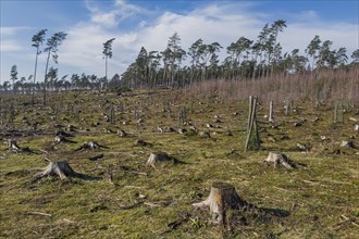
POLYGON ((249 207, 250 204, 242 200, 235 188, 226 183, 215 181, 212 184, 210 196, 202 202, 194 203, 196 207, 209 206, 213 223, 225 224, 227 210, 249 207))

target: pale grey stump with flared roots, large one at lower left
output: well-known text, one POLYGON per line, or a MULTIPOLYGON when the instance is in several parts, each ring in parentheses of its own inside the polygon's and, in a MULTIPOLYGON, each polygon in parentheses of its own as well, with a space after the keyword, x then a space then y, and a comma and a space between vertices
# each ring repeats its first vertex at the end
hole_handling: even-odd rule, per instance
POLYGON ((74 172, 66 161, 50 161, 39 178, 46 176, 59 176, 60 179, 66 179, 67 177, 78 177, 79 174, 74 172))

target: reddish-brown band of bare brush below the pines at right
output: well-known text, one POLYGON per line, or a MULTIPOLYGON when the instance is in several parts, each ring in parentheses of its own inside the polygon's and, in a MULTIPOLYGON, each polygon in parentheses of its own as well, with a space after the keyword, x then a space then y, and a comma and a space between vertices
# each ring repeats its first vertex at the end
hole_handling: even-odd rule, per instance
POLYGON ((359 104, 359 67, 323 71, 320 73, 276 75, 255 80, 207 80, 187 89, 188 98, 206 99, 216 92, 223 101, 259 96, 263 102, 273 100, 307 100, 331 102, 350 100, 359 104))

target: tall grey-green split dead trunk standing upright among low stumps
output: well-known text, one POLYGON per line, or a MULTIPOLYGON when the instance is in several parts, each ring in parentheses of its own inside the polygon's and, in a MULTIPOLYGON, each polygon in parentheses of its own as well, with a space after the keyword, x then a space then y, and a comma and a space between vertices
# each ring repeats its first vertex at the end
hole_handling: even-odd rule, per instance
POLYGON ((248 113, 248 127, 247 127, 247 139, 245 150, 260 148, 258 122, 257 122, 257 103, 258 98, 249 97, 249 113, 248 113))

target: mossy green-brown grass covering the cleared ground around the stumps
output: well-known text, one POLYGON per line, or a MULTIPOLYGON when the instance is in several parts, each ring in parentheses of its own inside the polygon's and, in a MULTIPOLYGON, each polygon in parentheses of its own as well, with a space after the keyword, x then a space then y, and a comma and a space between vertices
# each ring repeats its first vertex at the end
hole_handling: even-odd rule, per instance
POLYGON ((182 100, 181 91, 170 90, 140 90, 123 97, 86 91, 53 93, 46 108, 22 104, 29 99, 4 99, 14 103, 17 114, 13 124, 0 125, 1 131, 28 130, 30 126, 23 122, 24 116, 30 123, 38 122, 40 131, 2 137, 1 238, 356 238, 358 150, 339 144, 350 139, 359 146, 354 123, 348 121, 349 116, 358 118, 358 109, 344 114, 344 124, 333 124, 330 106, 313 109, 308 102, 296 102, 297 112, 287 116, 277 106, 275 128, 265 123, 268 105, 263 104, 258 115, 262 122, 261 150, 245 152, 246 101, 221 102, 215 97, 182 100), (111 102, 115 109, 122 109, 116 110, 113 125, 103 120, 111 102), (209 131, 210 138, 193 131, 157 131, 159 125, 177 128, 178 110, 189 105, 187 122, 199 131, 209 131), (57 118, 51 120, 54 108, 57 118), (214 115, 221 116, 222 123, 213 123, 214 115), (313 123, 315 117, 320 120, 313 123), (144 120, 140 126, 138 118, 144 120), (124 121, 128 125, 123 125, 124 121), (302 126, 294 127, 298 121, 302 121, 302 126), (207 123, 215 127, 207 128, 207 123), (45 154, 40 150, 53 144, 54 124, 76 126, 76 143, 58 144, 57 151, 45 154), (104 134, 106 127, 112 131, 124 129, 128 137, 104 134), (226 134, 228 130, 232 136, 226 134), (288 139, 281 139, 284 135, 288 139), (321 140, 321 136, 329 140, 321 140), (9 138, 38 154, 9 151, 9 138), (135 146, 136 139, 150 144, 135 146), (86 140, 96 140, 109 149, 73 151, 86 140), (310 146, 310 151, 299 152, 297 142, 310 146), (342 154, 333 154, 337 149, 342 154), (157 151, 184 163, 147 166, 150 152, 157 151), (265 166, 262 161, 270 151, 285 153, 300 165, 295 171, 265 166), (88 160, 99 153, 104 158, 88 160), (42 178, 32 184, 34 176, 46 167, 44 158, 67 160, 76 172, 101 179, 42 178), (250 203, 285 210, 290 215, 231 212, 227 216, 233 221, 227 226, 213 225, 209 212, 194 210, 191 203, 205 200, 211 184, 218 180, 232 184, 250 203), (182 219, 183 214, 188 216, 182 219), (180 222, 178 226, 171 228, 169 225, 174 222, 180 222))

